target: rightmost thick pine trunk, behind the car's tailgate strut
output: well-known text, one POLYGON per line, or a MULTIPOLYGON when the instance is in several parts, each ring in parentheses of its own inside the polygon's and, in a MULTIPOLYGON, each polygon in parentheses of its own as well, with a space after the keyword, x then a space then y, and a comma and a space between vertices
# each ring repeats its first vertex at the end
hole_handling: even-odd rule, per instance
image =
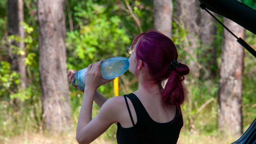
MULTIPOLYGON (((245 29, 224 18, 224 25, 244 39, 245 29)), ((242 77, 244 48, 228 31, 223 30, 218 96, 218 126, 228 135, 242 134, 242 77)))

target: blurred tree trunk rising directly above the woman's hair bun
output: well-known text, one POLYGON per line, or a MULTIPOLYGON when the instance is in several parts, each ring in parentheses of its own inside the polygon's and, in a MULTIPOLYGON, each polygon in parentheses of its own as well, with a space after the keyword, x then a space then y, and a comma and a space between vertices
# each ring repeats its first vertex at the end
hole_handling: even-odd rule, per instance
POLYGON ((177 0, 176 5, 177 20, 185 37, 182 47, 188 53, 186 59, 192 58, 188 67, 194 78, 199 77, 199 70, 201 69, 201 65, 197 62, 197 54, 194 53, 199 48, 198 6, 199 1, 195 0, 177 0))

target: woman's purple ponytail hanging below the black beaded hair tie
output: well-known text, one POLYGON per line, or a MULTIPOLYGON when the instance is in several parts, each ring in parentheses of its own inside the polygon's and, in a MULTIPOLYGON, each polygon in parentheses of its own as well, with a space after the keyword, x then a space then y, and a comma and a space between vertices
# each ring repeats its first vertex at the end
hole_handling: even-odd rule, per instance
POLYGON ((162 93, 162 100, 166 105, 180 106, 187 98, 187 90, 183 86, 182 81, 185 79, 184 75, 189 73, 189 68, 185 64, 171 70, 169 79, 165 85, 162 93))

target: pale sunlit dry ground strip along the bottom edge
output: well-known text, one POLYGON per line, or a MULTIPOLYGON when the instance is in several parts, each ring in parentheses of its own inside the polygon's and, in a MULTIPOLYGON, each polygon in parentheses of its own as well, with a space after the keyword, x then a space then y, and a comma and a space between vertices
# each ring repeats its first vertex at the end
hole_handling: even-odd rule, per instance
MULTIPOLYGON (((239 138, 239 137, 238 137, 239 138)), ((198 133, 181 132, 177 144, 230 144, 237 140, 235 137, 222 137, 221 135, 200 135, 198 133)), ((75 132, 65 135, 50 134, 22 134, 15 137, 5 138, 0 144, 78 144, 75 139, 75 132)), ((91 144, 116 144, 116 141, 109 142, 103 135, 91 144)))

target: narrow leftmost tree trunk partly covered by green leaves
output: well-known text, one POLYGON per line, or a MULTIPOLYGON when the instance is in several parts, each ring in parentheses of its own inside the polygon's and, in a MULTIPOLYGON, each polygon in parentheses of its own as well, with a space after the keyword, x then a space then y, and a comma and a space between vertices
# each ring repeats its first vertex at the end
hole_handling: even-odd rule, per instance
MULTIPOLYGON (((20 36, 21 39, 25 38, 25 31, 23 29, 23 26, 20 22, 24 21, 24 10, 23 10, 23 0, 8 0, 8 9, 9 9, 9 36, 12 34, 15 34, 17 36, 20 36)), ((25 44, 21 40, 20 42, 13 42, 12 44, 18 46, 20 48, 20 51, 22 53, 19 54, 13 54, 14 59, 12 59, 12 64, 14 65, 13 68, 15 70, 18 70, 18 72, 21 75, 21 82, 20 82, 20 88, 26 89, 26 83, 27 83, 27 75, 26 75, 26 64, 25 64, 25 57, 26 53, 24 48, 25 44), (16 66, 18 66, 16 68, 16 66)))

